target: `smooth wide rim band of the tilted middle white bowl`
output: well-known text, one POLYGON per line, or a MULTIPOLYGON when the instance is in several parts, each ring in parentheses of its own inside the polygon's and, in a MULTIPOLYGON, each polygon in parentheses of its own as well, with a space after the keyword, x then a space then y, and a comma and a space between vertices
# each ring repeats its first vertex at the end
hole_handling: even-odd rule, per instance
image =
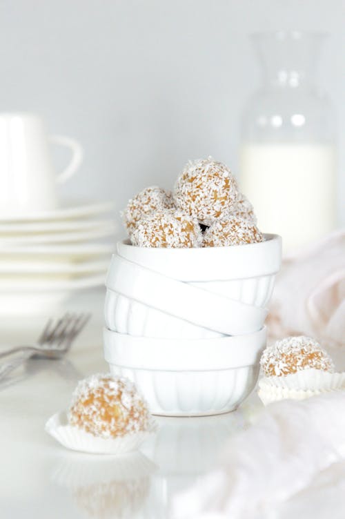
MULTIPOLYGON (((145 304, 149 309, 159 310, 201 328, 226 335, 258 331, 267 315, 266 309, 174 280, 118 255, 112 256, 106 286, 110 293, 124 295, 128 300, 145 304)), ((106 302, 106 322, 110 329, 114 329, 111 315, 119 320, 116 315, 119 300, 109 302, 110 297, 111 295, 106 302)), ((128 322, 136 320, 135 305, 130 304, 128 309, 128 322)), ((124 320, 124 316, 122 319, 124 320)))

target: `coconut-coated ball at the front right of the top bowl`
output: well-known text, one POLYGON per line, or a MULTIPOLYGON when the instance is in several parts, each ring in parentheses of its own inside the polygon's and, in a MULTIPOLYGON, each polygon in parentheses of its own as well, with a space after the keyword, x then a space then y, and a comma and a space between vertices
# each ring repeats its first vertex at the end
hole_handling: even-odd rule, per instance
POLYGON ((260 233, 257 226, 233 216, 213 222, 204 232, 203 246, 228 247, 263 241, 264 236, 260 233))

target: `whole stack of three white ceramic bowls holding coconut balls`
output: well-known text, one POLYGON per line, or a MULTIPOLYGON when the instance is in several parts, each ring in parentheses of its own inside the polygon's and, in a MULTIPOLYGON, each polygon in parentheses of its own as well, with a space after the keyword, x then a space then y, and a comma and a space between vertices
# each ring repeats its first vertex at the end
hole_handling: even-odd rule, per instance
POLYGON ((117 244, 106 280, 104 348, 158 415, 236 409, 253 390, 282 242, 216 248, 117 244))

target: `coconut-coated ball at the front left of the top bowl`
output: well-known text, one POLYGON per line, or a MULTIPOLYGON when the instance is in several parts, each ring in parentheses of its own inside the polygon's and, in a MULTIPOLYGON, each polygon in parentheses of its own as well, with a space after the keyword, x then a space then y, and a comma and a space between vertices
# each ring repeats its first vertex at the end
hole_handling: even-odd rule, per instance
POLYGON ((196 218, 166 209, 142 217, 130 240, 139 247, 201 247, 202 233, 196 218))

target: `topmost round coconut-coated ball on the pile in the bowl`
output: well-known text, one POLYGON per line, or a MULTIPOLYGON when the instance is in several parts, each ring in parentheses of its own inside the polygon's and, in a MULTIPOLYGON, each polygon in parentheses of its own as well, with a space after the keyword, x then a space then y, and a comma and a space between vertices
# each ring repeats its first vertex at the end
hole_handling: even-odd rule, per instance
POLYGON ((237 202, 237 182, 227 166, 212 157, 189 161, 177 178, 177 208, 210 225, 237 202))

